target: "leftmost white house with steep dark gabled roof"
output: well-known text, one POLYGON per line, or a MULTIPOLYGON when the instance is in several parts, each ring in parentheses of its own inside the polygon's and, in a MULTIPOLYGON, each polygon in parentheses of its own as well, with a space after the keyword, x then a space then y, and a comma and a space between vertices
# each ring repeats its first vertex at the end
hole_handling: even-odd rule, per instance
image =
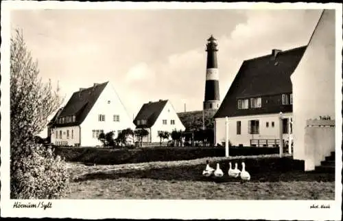
POLYGON ((101 132, 134 128, 115 89, 109 82, 75 91, 48 124, 56 146, 100 146, 101 132))

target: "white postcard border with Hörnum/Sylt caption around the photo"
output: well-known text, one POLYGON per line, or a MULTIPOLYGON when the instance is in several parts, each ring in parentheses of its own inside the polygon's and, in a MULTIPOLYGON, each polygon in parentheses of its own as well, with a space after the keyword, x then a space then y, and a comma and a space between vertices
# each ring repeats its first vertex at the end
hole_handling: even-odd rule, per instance
MULTIPOLYGON (((335 9, 336 10, 336 167, 342 169, 342 4, 339 3, 180 3, 180 2, 1 2, 1 217, 27 218, 175 218, 340 220, 341 170, 336 170, 335 200, 49 200, 51 209, 13 209, 10 200, 10 11, 33 9, 335 9), (5 43, 5 44, 4 44, 5 43), (8 113, 8 115, 6 115, 8 113), (329 204, 331 209, 309 209, 329 204)), ((43 200, 46 201, 47 200, 43 200)))

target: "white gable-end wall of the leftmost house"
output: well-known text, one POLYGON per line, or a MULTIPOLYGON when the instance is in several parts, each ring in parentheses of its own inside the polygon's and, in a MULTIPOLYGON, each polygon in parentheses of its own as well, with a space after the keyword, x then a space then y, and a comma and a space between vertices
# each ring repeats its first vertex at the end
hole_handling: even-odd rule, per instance
POLYGON ((93 130, 104 130, 104 133, 114 130, 114 137, 117 137, 118 130, 126 128, 134 130, 132 117, 126 112, 113 86, 108 84, 81 124, 81 146, 102 145, 97 138, 93 138, 93 130), (110 101, 109 104, 108 101, 110 101), (99 121, 99 114, 105 115, 105 121, 99 121), (113 121, 113 115, 120 116, 119 122, 113 121))

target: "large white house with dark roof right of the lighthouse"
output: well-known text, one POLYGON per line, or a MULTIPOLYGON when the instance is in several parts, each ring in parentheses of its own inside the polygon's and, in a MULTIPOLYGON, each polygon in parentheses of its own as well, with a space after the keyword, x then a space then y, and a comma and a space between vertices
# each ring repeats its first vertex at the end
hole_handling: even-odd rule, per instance
POLYGON ((292 82, 290 75, 306 46, 245 60, 214 115, 215 143, 233 146, 279 146, 282 113, 283 140, 291 136, 292 82))

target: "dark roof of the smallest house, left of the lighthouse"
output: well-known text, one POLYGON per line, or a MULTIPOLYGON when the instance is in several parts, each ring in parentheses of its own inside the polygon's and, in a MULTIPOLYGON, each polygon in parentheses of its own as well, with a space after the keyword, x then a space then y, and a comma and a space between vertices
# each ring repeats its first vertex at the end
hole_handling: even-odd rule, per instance
POLYGON ((161 114, 167 102, 168 100, 159 100, 158 102, 149 102, 143 104, 141 110, 139 110, 139 113, 134 118, 133 123, 137 126, 137 128, 151 128, 155 124, 156 119, 161 114), (147 120, 147 124, 138 125, 137 121, 142 119, 147 120))

